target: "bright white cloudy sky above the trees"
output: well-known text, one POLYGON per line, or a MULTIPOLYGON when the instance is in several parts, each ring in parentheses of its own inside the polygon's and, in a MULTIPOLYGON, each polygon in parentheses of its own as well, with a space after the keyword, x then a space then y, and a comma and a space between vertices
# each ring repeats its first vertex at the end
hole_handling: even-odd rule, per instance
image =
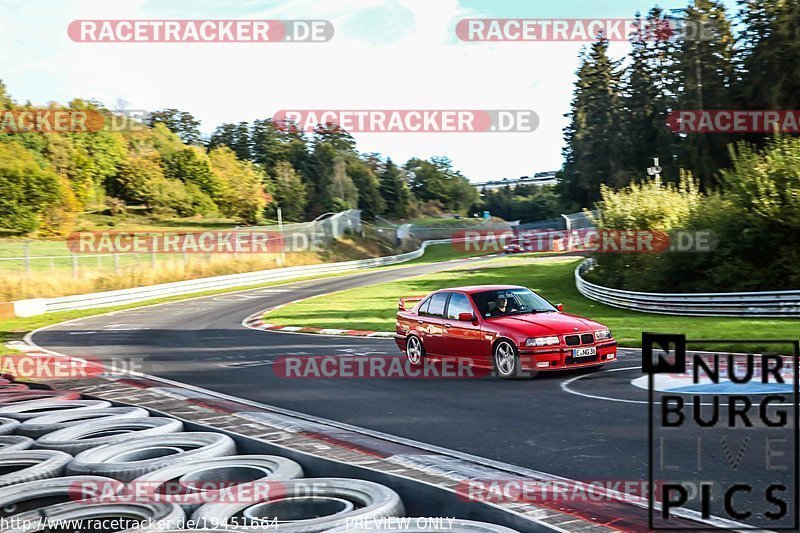
MULTIPOLYGON (((662 8, 688 0, 662 0, 662 8)), ((734 6, 733 0, 729 7, 734 6)), ((446 156, 475 182, 561 167, 585 43, 463 42, 464 18, 631 18, 646 0, 3 0, 0 78, 35 105, 191 112, 210 133, 282 109, 530 109, 533 132, 355 133, 395 161, 446 156), (325 19, 327 43, 77 43, 75 19, 325 19)), ((613 43, 621 57, 625 43, 613 43)))

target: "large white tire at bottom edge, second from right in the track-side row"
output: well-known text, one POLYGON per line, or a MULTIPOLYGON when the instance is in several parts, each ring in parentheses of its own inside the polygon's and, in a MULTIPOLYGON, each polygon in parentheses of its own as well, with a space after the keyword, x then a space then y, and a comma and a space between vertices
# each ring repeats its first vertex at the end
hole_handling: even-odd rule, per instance
POLYGON ((269 525, 277 531, 311 533, 345 526, 348 519, 405 514, 395 491, 371 481, 310 478, 284 481, 277 488, 277 494, 264 495, 260 502, 203 505, 192 520, 215 527, 235 520, 241 524, 238 531, 263 531, 269 525))

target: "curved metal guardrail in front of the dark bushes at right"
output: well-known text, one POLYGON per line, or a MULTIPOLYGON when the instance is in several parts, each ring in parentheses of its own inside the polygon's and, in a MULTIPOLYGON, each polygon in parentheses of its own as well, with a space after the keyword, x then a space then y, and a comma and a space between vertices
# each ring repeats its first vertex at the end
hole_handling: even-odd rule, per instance
POLYGON ((587 259, 575 269, 575 287, 591 300, 644 313, 682 316, 800 317, 800 291, 653 293, 612 289, 590 283, 582 275, 592 268, 587 259))

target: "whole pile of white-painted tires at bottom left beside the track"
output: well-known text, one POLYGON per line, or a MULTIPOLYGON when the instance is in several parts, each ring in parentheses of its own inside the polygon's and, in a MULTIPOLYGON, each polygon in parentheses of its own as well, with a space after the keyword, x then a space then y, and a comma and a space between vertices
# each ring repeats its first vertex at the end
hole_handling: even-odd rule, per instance
MULTIPOLYGON (((352 523, 432 531, 398 529, 405 509, 388 487, 303 475, 290 459, 237 455, 228 435, 184 431, 182 422, 145 409, 0 382, 0 533, 21 524, 27 533, 46 532, 54 520, 81 519, 139 533, 187 525, 195 533, 346 531, 352 523)), ((450 526, 512 532, 469 521, 450 526)))

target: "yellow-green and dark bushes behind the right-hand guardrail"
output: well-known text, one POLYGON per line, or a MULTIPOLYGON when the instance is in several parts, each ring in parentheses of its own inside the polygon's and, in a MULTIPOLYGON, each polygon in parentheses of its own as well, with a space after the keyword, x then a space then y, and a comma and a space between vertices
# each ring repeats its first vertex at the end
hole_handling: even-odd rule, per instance
POLYGON ((800 288, 800 139, 776 137, 763 150, 739 144, 722 190, 701 196, 687 179, 669 189, 645 183, 603 191, 604 228, 711 231, 711 252, 598 254, 590 278, 652 292, 800 288))

